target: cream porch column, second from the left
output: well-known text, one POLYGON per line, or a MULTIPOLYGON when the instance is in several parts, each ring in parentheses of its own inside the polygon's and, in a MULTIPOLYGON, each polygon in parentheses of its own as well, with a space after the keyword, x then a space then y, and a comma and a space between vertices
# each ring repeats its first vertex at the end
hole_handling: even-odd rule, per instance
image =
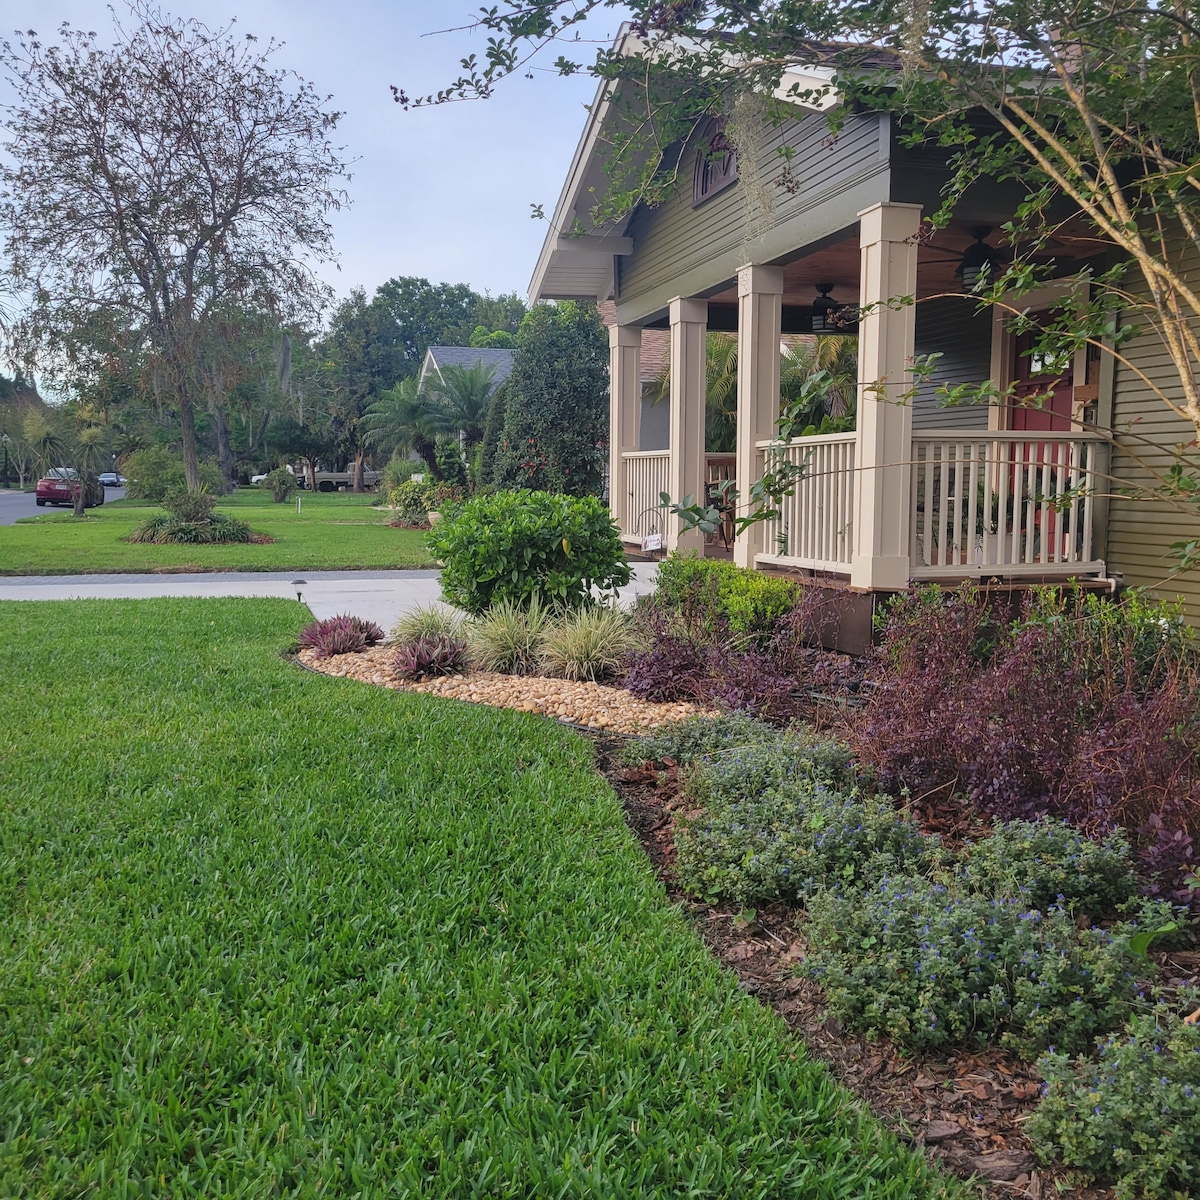
MULTIPOLYGON (((704 499, 704 392, 708 301, 677 298, 671 301, 671 464, 667 472, 671 500, 688 496, 704 499)), ((703 552, 698 529, 680 529, 679 518, 667 516, 667 550, 703 552)))

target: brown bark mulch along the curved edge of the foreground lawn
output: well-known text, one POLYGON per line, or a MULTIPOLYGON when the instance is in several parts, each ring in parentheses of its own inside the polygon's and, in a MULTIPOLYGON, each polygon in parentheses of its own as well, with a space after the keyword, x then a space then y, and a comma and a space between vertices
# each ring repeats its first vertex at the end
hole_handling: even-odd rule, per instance
MULTIPOLYGON (((1034 1166, 1022 1121, 1036 1108, 1040 1078, 1009 1052, 901 1054, 884 1040, 858 1039, 824 1007, 821 989, 797 978, 804 955, 798 912, 785 905, 758 910, 748 925, 732 905, 710 906, 685 896, 672 872, 673 812, 679 804, 679 769, 667 764, 626 767, 623 743, 598 742, 600 769, 622 799, 626 820, 641 839, 671 899, 692 917, 712 952, 734 971, 742 986, 769 1004, 808 1044, 812 1055, 853 1091, 895 1134, 955 1175, 977 1176, 988 1198, 1070 1195, 1111 1200, 1108 1188, 1073 1188, 1058 1171, 1034 1166)), ((948 841, 985 832, 964 805, 930 797, 914 805, 928 832, 948 841)), ((1160 955, 1164 976, 1200 971, 1200 953, 1160 955)))

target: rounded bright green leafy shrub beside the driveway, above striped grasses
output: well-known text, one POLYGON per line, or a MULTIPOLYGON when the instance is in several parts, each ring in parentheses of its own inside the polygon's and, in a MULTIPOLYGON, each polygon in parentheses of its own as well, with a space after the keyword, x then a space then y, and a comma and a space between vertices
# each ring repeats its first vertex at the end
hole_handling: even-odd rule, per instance
POLYGON ((444 516, 427 541, 443 563, 442 594, 472 613, 535 595, 576 608, 590 602, 593 588, 611 590, 630 577, 620 532, 590 496, 476 496, 444 516))

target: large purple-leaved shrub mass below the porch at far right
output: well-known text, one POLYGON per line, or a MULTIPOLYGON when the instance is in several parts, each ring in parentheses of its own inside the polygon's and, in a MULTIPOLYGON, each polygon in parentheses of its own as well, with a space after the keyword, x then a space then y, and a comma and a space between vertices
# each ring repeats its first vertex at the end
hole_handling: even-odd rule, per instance
POLYGON ((1003 820, 1121 827, 1163 894, 1200 836, 1200 654, 1176 610, 1034 590, 1018 619, 973 592, 889 610, 856 721, 893 790, 961 788, 1003 820))

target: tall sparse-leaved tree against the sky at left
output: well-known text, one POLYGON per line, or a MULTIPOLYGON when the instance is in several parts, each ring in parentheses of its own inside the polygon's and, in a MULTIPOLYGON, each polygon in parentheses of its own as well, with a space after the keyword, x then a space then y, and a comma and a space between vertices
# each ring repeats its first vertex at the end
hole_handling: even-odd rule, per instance
POLYGON ((64 25, 4 43, 0 226, 29 299, 13 340, 43 373, 104 311, 144 340, 199 487, 196 409, 208 314, 233 301, 299 319, 324 299, 344 203, 338 114, 274 65, 278 47, 138 0, 103 44, 64 25))

